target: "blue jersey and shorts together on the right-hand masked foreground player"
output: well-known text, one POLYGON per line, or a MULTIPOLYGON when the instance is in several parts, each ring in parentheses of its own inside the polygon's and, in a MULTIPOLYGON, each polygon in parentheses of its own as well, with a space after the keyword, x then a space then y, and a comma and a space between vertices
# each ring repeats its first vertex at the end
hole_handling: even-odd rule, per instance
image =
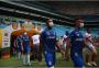
POLYGON ((70 35, 70 57, 75 67, 82 68, 84 58, 82 58, 82 47, 84 47, 84 36, 79 30, 74 30, 70 35))

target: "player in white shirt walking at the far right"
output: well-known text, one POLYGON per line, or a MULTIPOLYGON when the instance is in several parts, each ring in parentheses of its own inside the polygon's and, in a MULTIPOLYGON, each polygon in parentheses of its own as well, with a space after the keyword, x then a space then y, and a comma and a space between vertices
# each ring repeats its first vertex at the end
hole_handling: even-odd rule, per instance
POLYGON ((86 65, 88 66, 97 66, 96 58, 97 58, 97 50, 95 48, 95 43, 92 41, 90 29, 87 30, 85 34, 86 39, 86 65), (89 54, 91 53, 91 61, 89 63, 89 54))

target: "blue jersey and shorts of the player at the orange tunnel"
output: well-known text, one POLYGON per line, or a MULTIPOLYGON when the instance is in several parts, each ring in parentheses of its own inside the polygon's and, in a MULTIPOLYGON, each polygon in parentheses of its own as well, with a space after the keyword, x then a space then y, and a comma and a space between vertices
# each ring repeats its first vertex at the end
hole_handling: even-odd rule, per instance
POLYGON ((30 53, 30 37, 28 35, 22 36, 24 53, 30 53))

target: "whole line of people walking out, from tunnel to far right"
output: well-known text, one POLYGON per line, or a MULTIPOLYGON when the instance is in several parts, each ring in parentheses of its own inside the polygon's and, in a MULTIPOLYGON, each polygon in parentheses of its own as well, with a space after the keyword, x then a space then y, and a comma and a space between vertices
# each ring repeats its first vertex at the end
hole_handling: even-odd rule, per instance
MULTIPOLYGON (((91 38, 90 29, 82 35, 81 29, 84 27, 84 20, 81 18, 75 20, 75 29, 57 41, 57 34, 53 30, 53 20, 46 20, 46 29, 40 35, 33 35, 33 49, 37 53, 38 60, 42 61, 42 53, 45 58, 47 68, 54 68, 56 64, 56 49, 58 47, 64 59, 72 58, 74 67, 84 67, 82 49, 86 48, 86 64, 88 66, 97 66, 97 50, 95 43, 91 38), (69 53, 70 50, 70 53, 69 53), (91 53, 91 61, 89 61, 89 53, 91 53), (70 56, 70 57, 69 57, 70 56)), ((23 53, 23 65, 31 65, 30 63, 30 37, 26 32, 18 37, 19 49, 23 53)), ((19 53, 20 55, 20 53, 19 53)))

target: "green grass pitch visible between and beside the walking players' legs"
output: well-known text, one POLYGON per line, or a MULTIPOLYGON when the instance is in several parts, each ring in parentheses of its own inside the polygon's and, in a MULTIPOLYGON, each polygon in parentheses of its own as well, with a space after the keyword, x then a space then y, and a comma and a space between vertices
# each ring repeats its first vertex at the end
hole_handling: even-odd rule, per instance
MULTIPOLYGON (((98 49, 98 56, 99 56, 99 49, 98 49)), ((63 60, 61 53, 57 53, 56 57, 57 57, 56 58, 57 59, 57 61, 56 61, 57 68, 58 67, 72 67, 73 68, 73 63, 70 59, 69 59, 69 61, 63 60)), ((44 68, 46 66, 44 59, 42 61, 42 65, 38 65, 37 60, 31 60, 31 63, 32 63, 31 67, 34 67, 34 68, 35 67, 44 68)), ((97 65, 99 67, 99 58, 97 59, 97 65)), ((9 59, 0 59, 0 67, 24 67, 24 66, 22 65, 22 61, 19 60, 16 57, 11 57, 9 59)))

